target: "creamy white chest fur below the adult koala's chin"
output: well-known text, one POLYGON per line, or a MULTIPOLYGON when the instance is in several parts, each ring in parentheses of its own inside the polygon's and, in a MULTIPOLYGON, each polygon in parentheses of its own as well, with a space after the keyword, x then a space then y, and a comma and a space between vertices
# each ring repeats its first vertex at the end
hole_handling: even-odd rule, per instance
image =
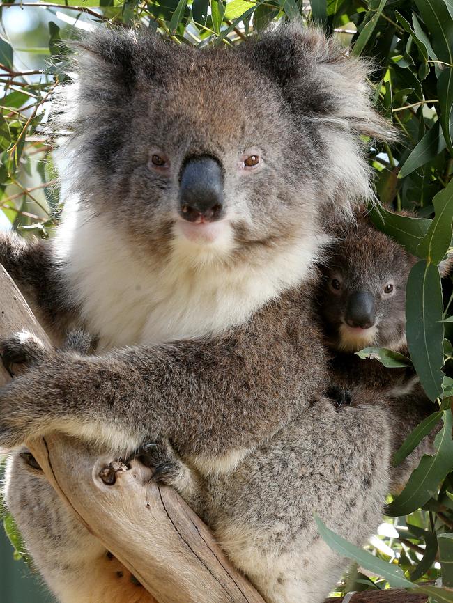
POLYGON ((84 219, 69 206, 55 249, 86 327, 106 350, 215 334, 240 324, 302 281, 318 246, 315 237, 301 237, 260 267, 197 269, 176 246, 164 267, 153 267, 105 219, 84 219))

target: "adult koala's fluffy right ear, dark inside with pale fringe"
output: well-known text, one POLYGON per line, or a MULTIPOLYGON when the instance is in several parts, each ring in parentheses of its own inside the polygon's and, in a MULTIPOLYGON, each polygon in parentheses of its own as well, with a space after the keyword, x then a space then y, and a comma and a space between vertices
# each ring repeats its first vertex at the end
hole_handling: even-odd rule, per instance
POLYGON ((370 64, 347 56, 320 29, 284 24, 256 38, 251 50, 254 64, 279 85, 298 116, 392 139, 391 125, 371 105, 370 64))

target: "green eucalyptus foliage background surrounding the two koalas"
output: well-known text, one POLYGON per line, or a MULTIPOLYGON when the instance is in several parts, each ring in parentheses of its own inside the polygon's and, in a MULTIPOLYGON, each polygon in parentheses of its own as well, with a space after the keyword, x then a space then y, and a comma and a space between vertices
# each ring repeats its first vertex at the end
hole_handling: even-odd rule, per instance
MULTIPOLYGON (((335 594, 389 584, 407 587, 408 581, 436 580, 441 572, 444 585, 453 586, 453 564, 443 563, 453 550, 453 379, 447 376, 453 364, 453 296, 451 283, 441 289, 438 272, 452 240, 453 0, 0 3, 0 228, 49 237, 58 224, 53 141, 45 125, 52 92, 67 77, 66 40, 107 22, 148 27, 176 44, 229 45, 282 19, 319 24, 341 40, 345 52, 374 60, 374 102, 401 132, 391 147, 369 141, 376 192, 387 209, 414 210, 417 218, 394 217, 385 210, 374 210, 373 217, 378 228, 420 257, 408 283, 408 343, 434 402, 433 414, 408 439, 399 459, 434 423, 443 421, 436 455, 424 457, 406 490, 389 500, 392 517, 371 539, 369 553, 360 553, 319 525, 332 547, 356 561, 335 594)), ((380 353, 388 361, 389 354, 380 353)), ((401 361, 408 360, 392 357, 392 363, 401 361)), ((12 534, 10 521, 6 517, 12 534)), ((12 559, 10 551, 0 549, 3 586, 6 577, 11 583, 8 563, 17 565, 12 559)), ((23 584, 6 588, 4 603, 40 600, 38 590, 32 598, 20 594, 23 584)), ((433 601, 453 601, 453 592, 445 589, 430 594, 433 601)))

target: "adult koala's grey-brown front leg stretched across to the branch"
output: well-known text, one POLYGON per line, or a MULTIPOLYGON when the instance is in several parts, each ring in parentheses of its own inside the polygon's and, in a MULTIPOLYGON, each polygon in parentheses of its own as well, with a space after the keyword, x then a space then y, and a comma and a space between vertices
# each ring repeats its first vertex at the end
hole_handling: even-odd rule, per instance
MULTIPOLYGON (((300 373, 298 366, 291 370, 291 362, 300 360, 289 356, 285 372, 270 373, 266 363, 249 366, 231 339, 131 347, 103 356, 49 351, 0 390, 0 445, 13 448, 31 435, 59 430, 120 455, 159 437, 187 455, 254 446, 292 416, 305 385, 298 379, 289 386, 288 375, 300 373)), ((252 333, 249 339, 242 343, 256 358, 259 338, 252 333)), ((18 353, 17 338, 13 345, 18 353)), ((22 345, 26 354, 28 343, 22 345)), ((8 352, 11 340, 0 347, 8 352)), ((266 362, 279 366, 281 357, 276 342, 266 362)))

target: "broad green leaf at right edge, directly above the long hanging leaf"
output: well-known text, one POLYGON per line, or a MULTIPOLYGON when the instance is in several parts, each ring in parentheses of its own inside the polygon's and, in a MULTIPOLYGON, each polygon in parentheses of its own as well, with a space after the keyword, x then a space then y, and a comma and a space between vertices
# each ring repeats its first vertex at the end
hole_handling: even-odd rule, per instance
POLYGON ((417 256, 438 265, 450 247, 453 221, 453 180, 433 198, 435 217, 417 249, 417 256))

